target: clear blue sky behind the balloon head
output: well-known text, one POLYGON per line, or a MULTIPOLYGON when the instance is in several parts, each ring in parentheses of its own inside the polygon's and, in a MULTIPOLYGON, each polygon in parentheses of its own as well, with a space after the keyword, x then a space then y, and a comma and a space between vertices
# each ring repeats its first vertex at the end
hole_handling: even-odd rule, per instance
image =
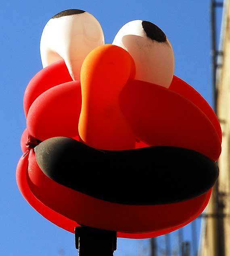
MULTIPOLYGON (((105 42, 134 19, 157 24, 175 55, 175 75, 211 104, 210 0, 40 0, 1 1, 0 9, 0 255, 77 255, 74 236, 40 216, 21 196, 15 169, 25 128, 23 94, 42 68, 40 36, 50 17, 65 9, 83 9, 100 22, 105 42), (63 254, 64 255, 64 254, 63 254)), ((220 19, 219 19, 220 20, 220 19)), ((137 255, 138 241, 119 239, 116 256, 137 255)))

